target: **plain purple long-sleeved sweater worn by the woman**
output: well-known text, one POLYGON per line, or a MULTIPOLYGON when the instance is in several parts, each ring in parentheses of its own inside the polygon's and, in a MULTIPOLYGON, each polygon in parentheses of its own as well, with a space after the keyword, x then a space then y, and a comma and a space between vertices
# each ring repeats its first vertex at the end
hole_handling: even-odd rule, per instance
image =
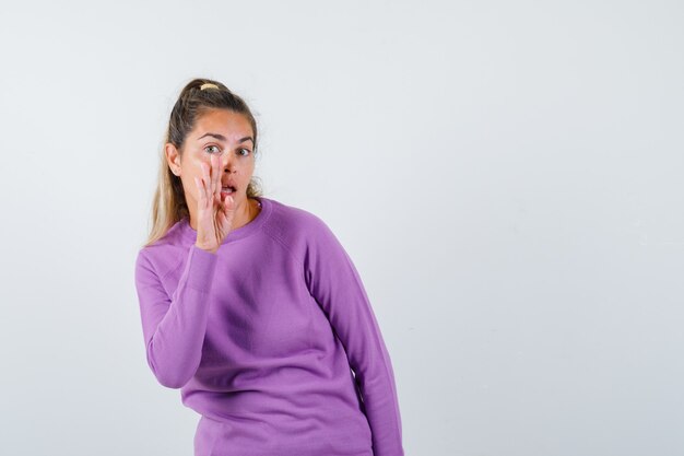
POLYGON ((194 455, 403 456, 389 353, 351 258, 318 217, 257 199, 216 254, 184 219, 135 262, 148 364, 202 416, 194 455))

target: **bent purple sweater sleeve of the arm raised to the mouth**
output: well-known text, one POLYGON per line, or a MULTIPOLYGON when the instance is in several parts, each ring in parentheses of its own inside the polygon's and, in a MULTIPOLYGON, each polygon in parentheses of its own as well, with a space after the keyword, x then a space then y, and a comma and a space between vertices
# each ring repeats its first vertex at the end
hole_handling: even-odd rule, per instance
POLYGON ((192 245, 169 296, 144 249, 138 254, 135 288, 148 364, 166 387, 180 388, 200 365, 216 258, 192 245))

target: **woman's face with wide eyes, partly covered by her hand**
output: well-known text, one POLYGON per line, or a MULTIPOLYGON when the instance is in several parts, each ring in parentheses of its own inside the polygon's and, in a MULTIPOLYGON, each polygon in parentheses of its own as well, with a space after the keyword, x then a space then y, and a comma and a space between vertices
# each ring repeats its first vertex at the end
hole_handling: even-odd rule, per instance
POLYGON ((229 184, 235 187, 232 194, 235 204, 237 208, 247 207, 247 186, 255 171, 253 144, 253 132, 247 117, 228 109, 210 109, 201 115, 186 137, 182 151, 174 144, 166 144, 168 166, 180 176, 193 220, 199 199, 194 177, 202 179, 202 163, 211 169, 212 155, 216 155, 221 163, 222 186, 229 184))

